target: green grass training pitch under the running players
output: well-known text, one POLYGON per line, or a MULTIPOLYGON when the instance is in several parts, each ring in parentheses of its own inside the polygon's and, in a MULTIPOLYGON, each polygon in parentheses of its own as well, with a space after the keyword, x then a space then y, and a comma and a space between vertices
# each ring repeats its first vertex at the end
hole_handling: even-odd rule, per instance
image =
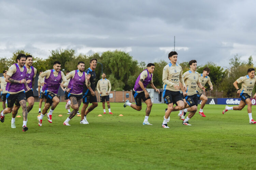
POLYGON ((75 116, 71 126, 64 126, 68 115, 60 103, 53 123, 45 116, 39 127, 35 103, 27 132, 22 132, 23 118, 16 118, 16 129, 11 114, 0 122, 0 169, 253 169, 256 125, 249 124, 247 106, 223 115, 224 107, 205 105, 206 117, 197 112, 189 121, 192 126, 182 125, 173 112, 170 129, 163 129, 165 104, 153 104, 152 126, 142 125, 145 104, 138 112, 123 103, 111 103, 113 115, 103 115, 99 103, 87 116, 89 124, 80 124, 75 116))

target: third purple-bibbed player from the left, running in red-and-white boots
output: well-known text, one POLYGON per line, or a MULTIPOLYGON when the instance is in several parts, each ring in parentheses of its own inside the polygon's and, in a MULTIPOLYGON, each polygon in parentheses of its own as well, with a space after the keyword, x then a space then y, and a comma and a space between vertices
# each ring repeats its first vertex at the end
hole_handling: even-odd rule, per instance
POLYGON ((52 114, 55 107, 59 104, 59 98, 56 96, 60 86, 66 87, 68 85, 67 79, 61 69, 61 64, 59 61, 53 63, 53 69, 46 70, 45 72, 39 75, 39 80, 43 86, 44 95, 47 97, 46 104, 43 108, 40 117, 38 119, 38 125, 42 126, 42 119, 47 113, 48 109, 51 107, 50 112, 46 114, 47 119, 52 123, 52 114), (43 81, 43 77, 45 77, 43 81), (61 80, 63 84, 61 84, 61 80))

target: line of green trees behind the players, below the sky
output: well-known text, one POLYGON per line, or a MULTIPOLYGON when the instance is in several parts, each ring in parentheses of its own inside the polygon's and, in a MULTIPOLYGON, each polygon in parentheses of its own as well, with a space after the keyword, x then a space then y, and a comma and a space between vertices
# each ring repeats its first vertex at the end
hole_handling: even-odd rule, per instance
MULTIPOLYGON (((13 52, 11 58, 1 57, 0 71, 8 70, 13 63, 16 63, 16 57, 19 53, 33 56, 33 54, 24 50, 17 50, 13 52)), ((51 54, 46 59, 33 56, 33 66, 37 68, 38 72, 39 70, 45 71, 53 68, 53 62, 60 61, 61 69, 63 69, 62 71, 66 73, 67 70, 76 70, 79 61, 85 63, 85 69, 89 68, 89 63, 92 58, 97 58, 98 60, 97 68, 95 70, 97 75, 96 81, 101 79, 101 71, 103 70, 107 75, 106 78, 111 82, 112 89, 117 91, 131 90, 138 75, 146 69, 147 65, 145 62, 139 63, 137 60, 134 60, 129 53, 123 51, 106 51, 101 55, 98 53, 94 53, 93 55, 75 55, 75 50, 73 49, 59 49, 52 50, 51 54)), ((211 69, 209 77, 211 78, 214 91, 223 91, 225 97, 230 97, 232 96, 231 94, 236 92, 236 89, 233 87, 233 82, 239 77, 247 75, 248 68, 254 68, 252 56, 250 56, 247 61, 242 61, 240 56, 235 55, 229 61, 229 65, 226 68, 218 66, 212 62, 198 65, 197 67, 199 73, 202 73, 204 67, 209 67, 211 69)), ((154 62, 154 64, 154 85, 157 88, 163 88, 162 70, 168 63, 160 60, 159 62, 154 62)), ((178 64, 182 66, 183 73, 189 70, 188 62, 181 62, 178 64)), ((205 85, 205 87, 209 90, 208 84, 205 85)), ((255 93, 255 88, 253 92, 255 93)))

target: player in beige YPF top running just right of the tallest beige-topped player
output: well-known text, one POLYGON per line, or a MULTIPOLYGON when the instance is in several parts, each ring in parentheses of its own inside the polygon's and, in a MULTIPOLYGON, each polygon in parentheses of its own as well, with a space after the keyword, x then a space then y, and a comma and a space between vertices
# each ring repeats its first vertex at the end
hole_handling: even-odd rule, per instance
POLYGON ((197 61, 191 60, 188 64, 189 64, 190 70, 186 71, 183 74, 183 79, 187 86, 187 91, 183 90, 183 93, 187 92, 187 96, 185 97, 185 99, 189 106, 188 108, 184 109, 184 114, 189 112, 186 119, 182 122, 182 124, 184 125, 191 125, 188 123, 188 120, 191 119, 197 112, 197 105, 198 105, 198 98, 197 98, 197 91, 196 91, 197 85, 201 89, 204 89, 204 87, 200 83, 199 74, 198 72, 196 72, 197 61))

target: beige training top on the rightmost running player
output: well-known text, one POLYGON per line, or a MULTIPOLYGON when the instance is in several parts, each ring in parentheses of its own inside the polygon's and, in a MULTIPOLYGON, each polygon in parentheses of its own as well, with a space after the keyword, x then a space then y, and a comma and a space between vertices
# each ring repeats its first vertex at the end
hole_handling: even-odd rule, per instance
POLYGON ((241 94, 246 93, 249 96, 252 96, 253 87, 255 85, 255 78, 250 78, 249 75, 245 75, 244 77, 240 77, 237 79, 238 83, 242 83, 241 86, 241 94))

